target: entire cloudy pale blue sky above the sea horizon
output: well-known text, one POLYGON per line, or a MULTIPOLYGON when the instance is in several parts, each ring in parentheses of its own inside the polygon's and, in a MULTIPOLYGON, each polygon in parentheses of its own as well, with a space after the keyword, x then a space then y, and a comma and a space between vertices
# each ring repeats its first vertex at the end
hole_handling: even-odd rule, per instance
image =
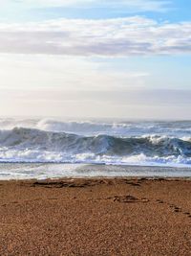
POLYGON ((190 0, 0 0, 0 115, 191 118, 190 0))

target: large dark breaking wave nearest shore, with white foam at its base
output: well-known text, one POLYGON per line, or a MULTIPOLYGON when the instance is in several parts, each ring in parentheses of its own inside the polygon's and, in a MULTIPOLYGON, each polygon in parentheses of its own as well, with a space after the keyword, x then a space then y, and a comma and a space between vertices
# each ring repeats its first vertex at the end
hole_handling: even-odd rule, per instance
MULTIPOLYGON (((38 123, 38 126, 42 124, 38 123)), ((2 129, 0 130, 0 161, 187 165, 189 167, 191 137, 179 138, 159 134, 82 135, 50 131, 45 128, 2 129)))

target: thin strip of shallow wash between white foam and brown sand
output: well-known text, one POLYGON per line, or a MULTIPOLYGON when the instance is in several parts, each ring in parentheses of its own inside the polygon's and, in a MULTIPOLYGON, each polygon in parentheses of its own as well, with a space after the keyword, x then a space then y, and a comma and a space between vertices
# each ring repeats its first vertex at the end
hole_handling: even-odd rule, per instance
POLYGON ((0 164, 0 180, 59 178, 189 178, 191 168, 96 164, 0 164))

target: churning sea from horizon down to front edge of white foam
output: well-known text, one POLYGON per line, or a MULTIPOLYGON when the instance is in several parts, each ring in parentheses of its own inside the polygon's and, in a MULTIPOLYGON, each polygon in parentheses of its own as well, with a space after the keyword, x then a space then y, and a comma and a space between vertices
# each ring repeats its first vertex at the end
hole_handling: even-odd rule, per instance
POLYGON ((191 122, 10 119, 0 128, 1 162, 191 167, 191 122))

